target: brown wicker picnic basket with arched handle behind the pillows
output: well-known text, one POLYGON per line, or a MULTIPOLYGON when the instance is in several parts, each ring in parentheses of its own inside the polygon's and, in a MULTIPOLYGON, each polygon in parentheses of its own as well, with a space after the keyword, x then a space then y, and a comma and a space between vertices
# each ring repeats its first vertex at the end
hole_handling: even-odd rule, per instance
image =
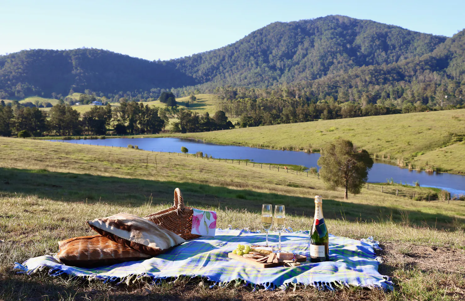
POLYGON ((197 234, 191 233, 192 215, 192 207, 186 207, 184 205, 181 190, 176 188, 174 190, 173 207, 145 216, 144 218, 173 231, 185 240, 189 240, 200 237, 197 234))

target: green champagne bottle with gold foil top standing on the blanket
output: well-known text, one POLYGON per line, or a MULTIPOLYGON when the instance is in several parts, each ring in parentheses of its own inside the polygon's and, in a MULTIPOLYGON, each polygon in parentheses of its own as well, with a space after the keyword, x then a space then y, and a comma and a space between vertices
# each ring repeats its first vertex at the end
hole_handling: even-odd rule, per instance
POLYGON ((329 261, 329 238, 323 218, 323 199, 315 196, 315 216, 313 217, 312 231, 310 232, 310 261, 329 261))

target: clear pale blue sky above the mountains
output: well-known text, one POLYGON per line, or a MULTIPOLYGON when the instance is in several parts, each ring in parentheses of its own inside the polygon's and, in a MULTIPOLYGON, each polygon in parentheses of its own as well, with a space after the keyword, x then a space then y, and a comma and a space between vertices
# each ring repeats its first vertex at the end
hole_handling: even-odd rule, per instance
POLYGON ((342 14, 423 33, 465 28, 464 0, 0 0, 0 54, 94 47, 174 59, 231 44, 275 21, 342 14))

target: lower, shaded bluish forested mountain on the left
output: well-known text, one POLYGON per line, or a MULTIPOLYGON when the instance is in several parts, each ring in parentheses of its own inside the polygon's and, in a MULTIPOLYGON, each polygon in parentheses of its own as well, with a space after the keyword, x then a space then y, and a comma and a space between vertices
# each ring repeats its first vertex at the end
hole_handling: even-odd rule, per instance
POLYGON ((23 50, 0 56, 0 98, 84 92, 150 91, 194 85, 164 63, 100 49, 23 50), (5 95, 7 94, 7 95, 5 95))

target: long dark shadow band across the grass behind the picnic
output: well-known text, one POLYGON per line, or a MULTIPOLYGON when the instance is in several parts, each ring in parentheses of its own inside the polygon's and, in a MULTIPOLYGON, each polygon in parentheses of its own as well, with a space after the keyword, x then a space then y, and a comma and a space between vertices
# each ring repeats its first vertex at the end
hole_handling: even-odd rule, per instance
MULTIPOLYGON (((152 201, 172 204, 173 190, 179 187, 186 204, 190 206, 212 206, 230 209, 247 209, 259 212, 262 203, 286 205, 286 212, 296 216, 313 216, 313 199, 286 196, 275 193, 262 193, 251 190, 234 190, 206 184, 151 181, 120 177, 102 177, 88 174, 60 173, 47 170, 19 170, 0 168, 0 194, 39 196, 63 202, 106 202, 122 206, 140 206, 152 201), (153 198, 153 199, 152 199, 153 198)), ((366 222, 405 222, 410 224, 436 226, 454 229, 457 223, 463 225, 465 219, 425 213, 419 210, 392 209, 380 205, 346 203, 325 200, 325 217, 348 221, 366 222)))

